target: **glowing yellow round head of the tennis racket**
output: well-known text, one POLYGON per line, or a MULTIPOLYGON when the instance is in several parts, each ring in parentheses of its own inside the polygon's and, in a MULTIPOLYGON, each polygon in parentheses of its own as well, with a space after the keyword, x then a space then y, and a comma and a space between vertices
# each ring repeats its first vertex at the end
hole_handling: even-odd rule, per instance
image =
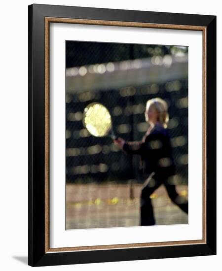
POLYGON ((105 136, 111 130, 111 115, 101 103, 92 102, 84 109, 83 125, 94 136, 105 136))

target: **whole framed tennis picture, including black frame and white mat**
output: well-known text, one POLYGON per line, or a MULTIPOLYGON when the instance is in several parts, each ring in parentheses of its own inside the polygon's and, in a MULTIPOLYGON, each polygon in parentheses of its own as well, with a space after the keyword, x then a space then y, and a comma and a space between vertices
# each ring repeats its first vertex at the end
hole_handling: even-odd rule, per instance
POLYGON ((29 265, 216 254, 216 16, 29 6, 29 265))

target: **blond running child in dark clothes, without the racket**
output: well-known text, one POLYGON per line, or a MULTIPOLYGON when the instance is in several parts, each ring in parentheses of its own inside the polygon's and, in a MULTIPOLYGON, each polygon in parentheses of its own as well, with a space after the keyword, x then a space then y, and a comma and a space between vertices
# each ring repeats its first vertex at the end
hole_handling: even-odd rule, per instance
POLYGON ((128 154, 139 154, 145 174, 140 198, 140 225, 155 225, 150 195, 164 184, 172 202, 188 213, 187 200, 179 196, 173 183, 175 164, 172 156, 170 137, 167 131, 169 121, 167 103, 155 98, 148 100, 145 111, 146 122, 150 125, 142 141, 126 142, 118 137, 114 142, 128 154))

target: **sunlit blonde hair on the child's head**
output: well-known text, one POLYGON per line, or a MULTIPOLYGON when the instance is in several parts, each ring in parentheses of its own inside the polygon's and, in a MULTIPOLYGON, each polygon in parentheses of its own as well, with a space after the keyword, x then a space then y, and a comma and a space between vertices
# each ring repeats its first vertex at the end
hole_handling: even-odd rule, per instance
POLYGON ((167 124, 169 122, 169 114, 168 114, 168 106, 167 103, 161 98, 154 98, 147 101, 146 108, 149 106, 153 106, 158 114, 158 121, 162 123, 164 128, 167 128, 167 124))

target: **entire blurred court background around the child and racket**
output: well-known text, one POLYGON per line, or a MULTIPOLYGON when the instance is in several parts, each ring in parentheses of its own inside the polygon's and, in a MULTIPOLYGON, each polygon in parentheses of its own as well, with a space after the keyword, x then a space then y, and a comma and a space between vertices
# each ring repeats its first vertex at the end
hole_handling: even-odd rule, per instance
MULTIPOLYGON (((155 97, 169 106, 174 183, 188 197, 188 48, 66 42, 66 229, 139 225, 145 181, 139 156, 126 155, 109 137, 90 135, 82 117, 89 103, 100 102, 117 136, 141 140, 146 102, 155 97)), ((157 224, 188 223, 164 187, 150 197, 157 224)))

